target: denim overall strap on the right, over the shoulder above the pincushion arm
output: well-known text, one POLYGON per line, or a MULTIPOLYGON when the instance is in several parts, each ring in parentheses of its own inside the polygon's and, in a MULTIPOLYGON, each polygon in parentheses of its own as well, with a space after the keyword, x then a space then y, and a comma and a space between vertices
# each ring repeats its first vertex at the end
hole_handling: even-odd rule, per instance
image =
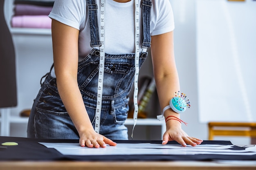
POLYGON ((143 41, 142 48, 150 48, 151 36, 150 36, 150 11, 152 2, 151 0, 142 0, 142 28, 143 28, 143 41))

